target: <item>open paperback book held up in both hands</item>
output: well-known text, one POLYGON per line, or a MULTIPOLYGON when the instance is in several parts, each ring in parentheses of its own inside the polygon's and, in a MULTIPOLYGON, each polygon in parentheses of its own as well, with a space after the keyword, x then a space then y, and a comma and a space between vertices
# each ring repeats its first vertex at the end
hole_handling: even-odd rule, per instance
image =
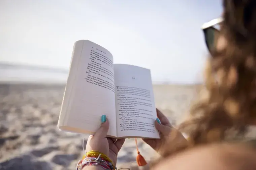
POLYGON ((58 127, 94 134, 102 115, 109 120, 109 137, 159 138, 150 70, 113 64, 108 50, 80 40, 74 44, 58 127))

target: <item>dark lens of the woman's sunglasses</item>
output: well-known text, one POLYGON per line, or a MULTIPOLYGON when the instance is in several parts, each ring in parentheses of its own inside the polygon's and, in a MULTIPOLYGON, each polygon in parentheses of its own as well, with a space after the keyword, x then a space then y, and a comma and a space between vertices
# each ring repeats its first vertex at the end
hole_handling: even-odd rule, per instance
POLYGON ((211 52, 215 48, 216 40, 219 36, 219 31, 213 27, 209 27, 203 31, 207 48, 211 52))

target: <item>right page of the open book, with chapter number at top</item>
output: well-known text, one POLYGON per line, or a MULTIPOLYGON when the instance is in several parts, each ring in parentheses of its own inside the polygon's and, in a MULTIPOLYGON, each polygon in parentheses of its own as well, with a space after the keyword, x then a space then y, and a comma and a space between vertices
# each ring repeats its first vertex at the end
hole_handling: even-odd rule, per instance
POLYGON ((117 137, 159 138, 149 69, 114 64, 117 137))

